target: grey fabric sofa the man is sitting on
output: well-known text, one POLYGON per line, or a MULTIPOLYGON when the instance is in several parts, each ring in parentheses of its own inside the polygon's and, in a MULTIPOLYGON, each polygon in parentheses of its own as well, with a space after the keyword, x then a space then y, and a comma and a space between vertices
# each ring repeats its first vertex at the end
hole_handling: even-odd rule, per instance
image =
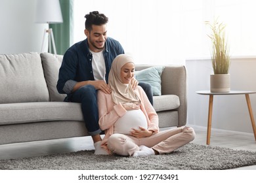
MULTIPOLYGON (((0 144, 87 136, 79 103, 56 90, 62 56, 0 55, 0 144)), ((153 65, 137 65, 136 70, 153 65)), ((186 124, 186 68, 165 65, 154 96, 160 127, 186 124)))

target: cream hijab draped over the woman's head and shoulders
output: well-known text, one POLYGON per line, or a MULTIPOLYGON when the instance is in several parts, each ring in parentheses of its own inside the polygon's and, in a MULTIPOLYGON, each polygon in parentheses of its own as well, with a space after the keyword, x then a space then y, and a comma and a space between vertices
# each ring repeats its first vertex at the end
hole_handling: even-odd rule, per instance
POLYGON ((126 63, 133 63, 133 58, 125 54, 117 56, 111 66, 108 76, 108 84, 112 89, 112 101, 118 103, 140 103, 139 97, 133 91, 131 84, 123 84, 121 82, 121 67, 126 63))

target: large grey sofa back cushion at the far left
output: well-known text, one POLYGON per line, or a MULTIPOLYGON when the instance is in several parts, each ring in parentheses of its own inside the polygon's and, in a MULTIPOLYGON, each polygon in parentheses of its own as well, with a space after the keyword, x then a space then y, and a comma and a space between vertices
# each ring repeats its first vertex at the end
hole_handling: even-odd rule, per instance
POLYGON ((0 55, 0 103, 49 101, 37 53, 0 55))

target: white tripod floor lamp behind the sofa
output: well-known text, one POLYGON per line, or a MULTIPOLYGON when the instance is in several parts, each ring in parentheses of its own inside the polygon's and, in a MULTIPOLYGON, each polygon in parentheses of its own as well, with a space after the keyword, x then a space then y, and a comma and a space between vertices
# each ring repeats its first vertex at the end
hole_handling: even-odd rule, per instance
POLYGON ((53 29, 49 28, 50 24, 62 23, 62 13, 60 10, 59 0, 37 0, 35 22, 48 24, 48 29, 45 29, 43 34, 43 43, 41 47, 41 52, 45 48, 45 42, 48 42, 48 52, 53 52, 56 54, 56 46, 54 42, 53 29), (48 37, 48 41, 47 41, 48 37))

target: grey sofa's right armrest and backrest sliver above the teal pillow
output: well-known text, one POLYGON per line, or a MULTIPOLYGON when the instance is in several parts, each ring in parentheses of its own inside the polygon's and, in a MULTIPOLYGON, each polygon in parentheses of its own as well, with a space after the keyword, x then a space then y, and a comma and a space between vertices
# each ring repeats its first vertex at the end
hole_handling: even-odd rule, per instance
MULTIPOLYGON (((156 65, 136 65, 140 71, 156 65)), ((165 65, 161 75, 161 94, 177 95, 180 99, 178 126, 186 125, 187 116, 187 71, 184 65, 165 65)))

